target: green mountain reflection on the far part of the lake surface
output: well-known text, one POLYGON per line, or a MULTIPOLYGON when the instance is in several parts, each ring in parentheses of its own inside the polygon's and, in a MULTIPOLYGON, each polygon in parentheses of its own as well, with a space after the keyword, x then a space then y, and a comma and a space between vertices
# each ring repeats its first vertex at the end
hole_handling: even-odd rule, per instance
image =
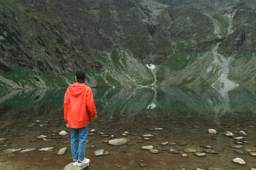
MULTIPOLYGON (((229 91, 227 96, 211 87, 97 88, 92 91, 98 113, 108 117, 113 114, 134 116, 144 109, 211 112, 216 115, 256 113, 256 89, 252 87, 237 87, 229 91), (119 112, 111 112, 113 109, 119 112)), ((1 91, 0 117, 22 110, 34 115, 56 113, 63 107, 64 93, 65 89, 1 91)))

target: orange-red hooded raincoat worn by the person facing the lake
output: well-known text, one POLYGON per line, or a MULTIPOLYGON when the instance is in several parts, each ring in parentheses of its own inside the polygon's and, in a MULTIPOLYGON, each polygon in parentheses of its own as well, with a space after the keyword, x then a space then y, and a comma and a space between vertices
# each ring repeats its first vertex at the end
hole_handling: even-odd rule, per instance
POLYGON ((71 84, 64 96, 64 120, 67 128, 84 128, 97 115, 92 89, 84 83, 71 84))

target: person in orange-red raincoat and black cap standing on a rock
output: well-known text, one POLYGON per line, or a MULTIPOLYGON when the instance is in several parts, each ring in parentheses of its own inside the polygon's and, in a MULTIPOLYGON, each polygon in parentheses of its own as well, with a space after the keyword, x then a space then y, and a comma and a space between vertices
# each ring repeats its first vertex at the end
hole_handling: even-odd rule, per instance
POLYGON ((73 166, 83 166, 90 162, 85 158, 85 148, 90 119, 97 116, 92 89, 85 85, 85 72, 77 71, 76 83, 71 84, 64 96, 64 120, 71 128, 71 153, 73 166))

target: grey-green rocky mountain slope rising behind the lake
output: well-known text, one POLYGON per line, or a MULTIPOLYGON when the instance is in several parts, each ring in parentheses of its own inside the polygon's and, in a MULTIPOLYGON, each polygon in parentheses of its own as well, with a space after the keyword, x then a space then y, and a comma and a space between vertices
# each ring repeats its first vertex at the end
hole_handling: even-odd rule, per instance
POLYGON ((256 85, 254 0, 0 0, 0 87, 256 85))

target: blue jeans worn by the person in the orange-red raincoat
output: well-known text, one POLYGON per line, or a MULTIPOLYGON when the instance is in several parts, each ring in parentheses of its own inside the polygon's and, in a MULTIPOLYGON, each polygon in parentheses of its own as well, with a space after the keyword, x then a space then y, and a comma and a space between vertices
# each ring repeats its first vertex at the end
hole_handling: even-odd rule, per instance
POLYGON ((85 158, 85 147, 89 125, 84 128, 71 128, 71 153, 74 161, 83 161, 85 158))

